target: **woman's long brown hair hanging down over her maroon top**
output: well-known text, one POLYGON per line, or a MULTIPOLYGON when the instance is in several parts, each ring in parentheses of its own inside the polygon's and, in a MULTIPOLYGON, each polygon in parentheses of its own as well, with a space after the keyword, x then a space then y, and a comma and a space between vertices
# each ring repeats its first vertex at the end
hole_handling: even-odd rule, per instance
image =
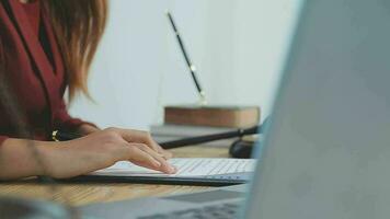
POLYGON ((42 0, 53 20, 68 78, 69 100, 76 93, 89 95, 88 72, 103 35, 106 0, 42 0))

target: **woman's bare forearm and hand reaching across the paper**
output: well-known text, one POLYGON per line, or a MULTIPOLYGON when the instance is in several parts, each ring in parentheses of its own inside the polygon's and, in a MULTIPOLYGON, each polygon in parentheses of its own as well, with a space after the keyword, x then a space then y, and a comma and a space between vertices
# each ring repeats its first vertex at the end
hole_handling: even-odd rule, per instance
POLYGON ((34 175, 72 177, 117 161, 171 174, 176 171, 167 162, 171 157, 148 132, 119 128, 61 142, 9 138, 0 146, 0 180, 34 175))

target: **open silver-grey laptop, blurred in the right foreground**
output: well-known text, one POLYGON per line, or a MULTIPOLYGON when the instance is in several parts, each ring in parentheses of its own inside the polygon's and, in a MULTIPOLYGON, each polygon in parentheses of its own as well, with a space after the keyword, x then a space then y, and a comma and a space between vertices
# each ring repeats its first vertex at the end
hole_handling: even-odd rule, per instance
POLYGON ((251 185, 80 210, 91 218, 389 218, 389 2, 302 1, 251 185))

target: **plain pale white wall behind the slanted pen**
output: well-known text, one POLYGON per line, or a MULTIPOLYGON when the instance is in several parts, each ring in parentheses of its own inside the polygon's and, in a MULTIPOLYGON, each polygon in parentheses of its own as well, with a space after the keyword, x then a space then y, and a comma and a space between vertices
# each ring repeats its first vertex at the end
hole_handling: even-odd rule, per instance
POLYGON ((90 77, 96 104, 74 116, 101 127, 147 129, 162 105, 197 101, 164 15, 172 11, 211 104, 254 104, 269 113, 299 0, 111 0, 90 77))

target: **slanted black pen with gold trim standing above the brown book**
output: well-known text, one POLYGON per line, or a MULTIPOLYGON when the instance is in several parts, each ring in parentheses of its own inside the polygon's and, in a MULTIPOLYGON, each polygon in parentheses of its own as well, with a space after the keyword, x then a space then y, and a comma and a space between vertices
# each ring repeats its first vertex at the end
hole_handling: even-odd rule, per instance
POLYGON ((182 37, 180 36, 180 33, 177 31, 177 27, 173 21, 173 18, 172 18, 172 14, 168 11, 167 12, 167 15, 168 15, 168 19, 170 20, 170 23, 172 25, 172 28, 174 31, 174 33, 176 34, 176 39, 177 39, 177 43, 179 43, 179 46, 180 46, 180 49, 182 50, 182 54, 184 56, 184 59, 188 66, 188 69, 190 69, 190 72, 191 72, 191 76, 193 78, 193 81, 195 83, 195 87, 197 89, 197 92, 199 94, 199 97, 200 97, 200 105, 206 105, 207 101, 206 101, 206 93, 205 91, 202 89, 200 87, 200 83, 199 81, 197 80, 196 78, 196 68, 195 66, 192 64, 192 61, 190 60, 190 57, 185 50, 185 47, 184 47, 184 44, 183 44, 183 41, 182 41, 182 37))

